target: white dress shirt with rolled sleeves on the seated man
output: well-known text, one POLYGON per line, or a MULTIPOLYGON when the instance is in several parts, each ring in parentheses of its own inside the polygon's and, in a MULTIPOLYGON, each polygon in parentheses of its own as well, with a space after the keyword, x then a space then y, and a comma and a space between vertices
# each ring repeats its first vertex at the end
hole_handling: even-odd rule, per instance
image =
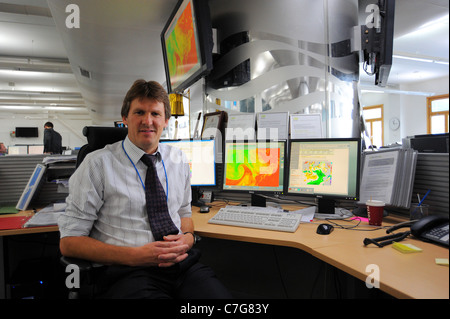
MULTIPOLYGON (((156 170, 168 194, 170 216, 180 229, 181 218, 191 217, 189 164, 169 145, 159 144, 158 152, 156 170)), ((69 180, 67 208, 58 220, 61 238, 90 236, 132 247, 154 241, 142 185, 147 172, 143 154, 126 137, 86 156, 69 180)))

